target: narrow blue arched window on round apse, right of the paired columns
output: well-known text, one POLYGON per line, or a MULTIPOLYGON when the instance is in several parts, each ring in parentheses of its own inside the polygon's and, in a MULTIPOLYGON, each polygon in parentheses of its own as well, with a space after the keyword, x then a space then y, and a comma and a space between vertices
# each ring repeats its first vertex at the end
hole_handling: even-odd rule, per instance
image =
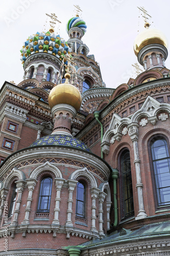
POLYGON ((85 186, 81 182, 77 183, 76 216, 85 218, 85 186))

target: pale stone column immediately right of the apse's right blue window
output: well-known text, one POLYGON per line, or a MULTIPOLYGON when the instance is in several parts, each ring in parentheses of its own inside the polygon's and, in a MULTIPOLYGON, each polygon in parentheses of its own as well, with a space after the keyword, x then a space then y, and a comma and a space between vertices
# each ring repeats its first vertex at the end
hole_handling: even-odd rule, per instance
POLYGON ((90 193, 91 193, 91 231, 92 232, 98 232, 96 230, 96 226, 95 226, 95 221, 96 221, 96 206, 95 206, 95 202, 96 202, 96 198, 98 198, 99 196, 99 192, 101 190, 99 188, 96 187, 92 187, 90 188, 90 193))

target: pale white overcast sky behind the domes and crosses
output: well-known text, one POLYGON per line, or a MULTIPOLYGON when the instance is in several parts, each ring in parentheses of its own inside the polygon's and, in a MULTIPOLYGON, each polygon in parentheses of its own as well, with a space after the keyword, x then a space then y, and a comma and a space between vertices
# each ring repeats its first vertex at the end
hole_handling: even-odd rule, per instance
MULTIPOLYGON (((132 75, 135 78, 132 64, 137 62, 137 57, 133 42, 137 31, 144 29, 137 6, 148 11, 152 16, 152 28, 160 29, 170 43, 169 0, 6 0, 1 3, 0 10, 0 87, 5 80, 14 80, 16 84, 22 81, 20 49, 28 36, 43 30, 45 13, 58 16, 62 23, 59 34, 68 40, 65 27, 68 19, 75 16, 73 5, 79 5, 83 10, 87 32, 82 40, 88 46, 89 54, 94 54, 99 62, 108 88, 128 82, 132 75)), ((170 58, 167 57, 165 63, 170 68, 170 58)))

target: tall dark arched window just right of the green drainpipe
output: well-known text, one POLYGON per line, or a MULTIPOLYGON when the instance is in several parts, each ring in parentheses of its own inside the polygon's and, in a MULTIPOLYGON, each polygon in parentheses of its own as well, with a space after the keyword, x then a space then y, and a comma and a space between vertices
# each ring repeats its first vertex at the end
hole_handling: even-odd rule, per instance
POLYGON ((125 150, 121 155, 121 171, 122 171, 124 217, 128 217, 134 214, 131 162, 130 162, 129 150, 125 150))

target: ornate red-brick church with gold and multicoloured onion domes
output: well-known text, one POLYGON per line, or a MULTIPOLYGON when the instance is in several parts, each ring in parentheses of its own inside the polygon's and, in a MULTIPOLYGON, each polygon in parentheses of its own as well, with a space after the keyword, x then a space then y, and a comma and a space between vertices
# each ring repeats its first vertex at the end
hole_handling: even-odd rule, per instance
POLYGON ((113 89, 83 18, 67 41, 51 25, 22 46, 23 80, 0 91, 0 256, 170 255, 165 35, 145 23, 144 72, 113 89))

